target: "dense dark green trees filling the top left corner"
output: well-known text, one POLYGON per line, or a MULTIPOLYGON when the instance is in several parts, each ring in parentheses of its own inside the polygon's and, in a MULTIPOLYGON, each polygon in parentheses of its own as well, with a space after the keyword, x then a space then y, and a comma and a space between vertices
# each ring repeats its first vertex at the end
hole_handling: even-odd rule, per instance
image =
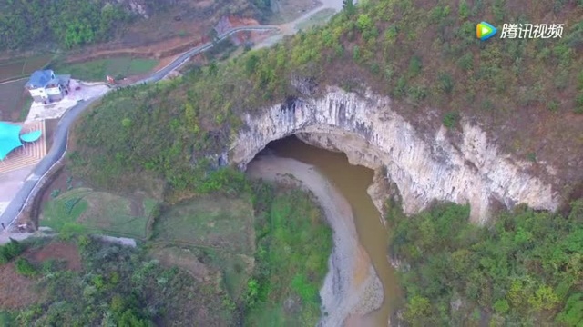
POLYGON ((65 48, 107 40, 131 15, 105 1, 6 0, 0 5, 0 50, 53 41, 65 48))

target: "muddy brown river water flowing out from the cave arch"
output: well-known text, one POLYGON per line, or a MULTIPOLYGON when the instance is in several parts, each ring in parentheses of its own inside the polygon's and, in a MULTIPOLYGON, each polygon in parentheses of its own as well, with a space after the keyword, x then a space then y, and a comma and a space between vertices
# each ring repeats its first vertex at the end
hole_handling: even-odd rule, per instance
POLYGON ((386 326, 398 300, 398 288, 393 267, 387 261, 387 231, 380 221, 381 214, 366 193, 373 183, 373 171, 363 166, 351 165, 345 154, 304 144, 294 136, 272 142, 268 148, 281 157, 293 158, 317 167, 352 205, 360 242, 371 257, 374 269, 384 286, 383 306, 364 317, 358 325, 386 326))

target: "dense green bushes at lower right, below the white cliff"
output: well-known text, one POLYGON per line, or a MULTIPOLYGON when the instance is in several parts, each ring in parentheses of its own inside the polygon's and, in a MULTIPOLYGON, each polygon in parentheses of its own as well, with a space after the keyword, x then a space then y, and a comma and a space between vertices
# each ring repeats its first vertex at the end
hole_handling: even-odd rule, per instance
POLYGON ((389 216, 404 319, 414 326, 583 323, 583 200, 567 215, 519 207, 468 223, 454 204, 389 216))

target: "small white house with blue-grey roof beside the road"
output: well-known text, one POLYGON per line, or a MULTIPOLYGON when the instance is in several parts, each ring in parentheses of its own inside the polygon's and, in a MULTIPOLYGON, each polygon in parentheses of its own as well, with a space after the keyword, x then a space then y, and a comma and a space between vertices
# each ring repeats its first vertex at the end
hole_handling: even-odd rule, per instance
POLYGON ((30 75, 25 87, 35 102, 52 103, 69 94, 71 75, 56 75, 52 70, 36 71, 30 75))

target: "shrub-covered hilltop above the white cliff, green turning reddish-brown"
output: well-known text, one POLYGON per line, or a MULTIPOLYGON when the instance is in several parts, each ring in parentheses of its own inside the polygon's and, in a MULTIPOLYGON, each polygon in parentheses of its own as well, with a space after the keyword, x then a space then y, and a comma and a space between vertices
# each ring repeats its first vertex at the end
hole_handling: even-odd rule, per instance
MULTIPOLYGON (((459 113, 534 169, 550 163, 580 181, 582 14, 583 4, 565 1, 361 2, 270 49, 194 68, 169 84, 110 94, 79 124, 75 155, 94 175, 147 169, 186 187, 195 180, 192 163, 227 147, 242 112, 298 95, 291 79, 299 76, 320 93, 333 84, 389 95, 421 132, 442 123, 426 118, 435 113, 455 131, 450 118, 459 113), (475 28, 482 20, 560 23, 565 30, 562 38, 481 42, 475 28)), ((115 175, 101 176, 111 182, 115 175)))

